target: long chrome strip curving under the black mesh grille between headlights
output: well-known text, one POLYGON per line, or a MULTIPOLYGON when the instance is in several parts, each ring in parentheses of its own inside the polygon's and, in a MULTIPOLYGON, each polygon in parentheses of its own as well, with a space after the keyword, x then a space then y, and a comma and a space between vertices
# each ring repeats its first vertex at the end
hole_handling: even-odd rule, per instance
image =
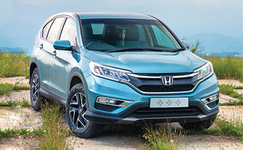
POLYGON ((202 83, 202 81, 206 80, 207 78, 210 78, 210 76, 213 75, 213 72, 210 73, 210 75, 207 75, 205 78, 202 78, 201 80, 199 80, 196 84, 196 86, 194 86, 193 89, 191 89, 191 91, 178 91, 178 92, 144 92, 144 91, 140 91, 139 88, 137 88, 136 86, 133 86, 133 84, 126 82, 124 80, 120 80, 120 83, 124 83, 127 84, 128 86, 131 86, 131 88, 133 88, 134 90, 136 90, 139 93, 144 93, 144 94, 169 94, 169 93, 191 93, 194 91, 194 89, 197 88, 197 86, 199 85, 199 83, 202 83))

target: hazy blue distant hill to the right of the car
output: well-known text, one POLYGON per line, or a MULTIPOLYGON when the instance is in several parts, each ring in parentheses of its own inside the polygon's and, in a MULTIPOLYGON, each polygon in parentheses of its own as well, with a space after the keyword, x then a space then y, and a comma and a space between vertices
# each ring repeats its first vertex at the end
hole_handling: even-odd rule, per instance
POLYGON ((202 54, 237 52, 243 53, 243 38, 223 36, 218 33, 198 33, 185 37, 189 43, 194 43, 196 39, 202 41, 205 51, 202 54))

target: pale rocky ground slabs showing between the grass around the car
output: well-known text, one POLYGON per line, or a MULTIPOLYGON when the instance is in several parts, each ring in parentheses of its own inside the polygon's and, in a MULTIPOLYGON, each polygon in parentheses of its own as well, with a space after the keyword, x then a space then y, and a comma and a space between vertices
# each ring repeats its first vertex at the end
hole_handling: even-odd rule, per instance
MULTIPOLYGON (((219 80, 219 84, 228 83, 242 86, 237 80, 219 80)), ((12 83, 29 86, 25 77, 0 78, 0 83, 12 83)), ((239 91, 242 93, 242 90, 239 91)), ((11 91, 0 96, 0 101, 14 101, 15 99, 30 99, 30 91, 11 91)), ((220 94, 220 103, 236 101, 230 96, 220 94)), ((219 115, 227 120, 243 119, 243 106, 220 106, 219 115)), ((0 128, 33 128, 42 125, 41 112, 35 112, 32 107, 0 107, 0 128)), ((214 126, 214 125, 213 125, 214 126)), ((170 123, 171 128, 181 128, 178 123, 170 123)), ((120 126, 119 128, 125 128, 120 126)), ((38 149, 38 137, 14 136, 3 138, 0 149, 38 149)), ((96 138, 73 137, 74 149, 142 149, 146 141, 142 135, 125 136, 125 134, 103 133, 96 138)), ((181 142, 182 149, 243 149, 243 141, 233 136, 186 135, 181 142)))

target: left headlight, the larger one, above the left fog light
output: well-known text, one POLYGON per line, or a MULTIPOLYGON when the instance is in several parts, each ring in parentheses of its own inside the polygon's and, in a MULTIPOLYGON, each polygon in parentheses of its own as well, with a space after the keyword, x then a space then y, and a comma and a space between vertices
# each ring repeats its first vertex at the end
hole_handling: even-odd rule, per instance
POLYGON ((130 81, 130 78, 126 73, 131 73, 127 70, 120 70, 115 67, 106 66, 104 64, 98 64, 96 62, 90 62, 89 64, 91 72, 99 77, 107 78, 111 80, 125 80, 130 81))

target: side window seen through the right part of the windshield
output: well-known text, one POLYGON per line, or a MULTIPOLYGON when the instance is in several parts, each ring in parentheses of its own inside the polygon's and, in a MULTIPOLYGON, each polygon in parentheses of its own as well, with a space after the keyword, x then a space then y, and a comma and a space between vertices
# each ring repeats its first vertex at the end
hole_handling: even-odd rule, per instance
POLYGON ((157 26, 152 25, 152 29, 154 30, 154 36, 157 38, 157 44, 160 46, 167 46, 171 48, 175 48, 173 45, 173 42, 170 41, 170 38, 166 36, 165 33, 160 30, 160 28, 157 28, 157 26))

